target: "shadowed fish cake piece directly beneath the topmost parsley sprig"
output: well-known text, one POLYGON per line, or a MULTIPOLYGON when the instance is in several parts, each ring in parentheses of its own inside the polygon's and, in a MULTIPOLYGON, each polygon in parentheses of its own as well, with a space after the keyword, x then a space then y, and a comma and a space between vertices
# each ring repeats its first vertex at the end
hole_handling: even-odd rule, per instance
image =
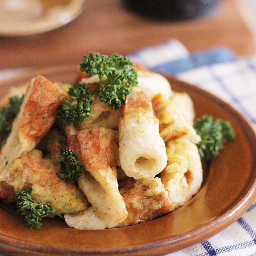
POLYGON ((110 106, 106 106, 103 102, 100 102, 98 98, 94 98, 91 110, 90 117, 85 118, 84 121, 78 124, 79 130, 94 126, 102 126, 113 130, 118 129, 118 118, 121 108, 114 110, 110 106))

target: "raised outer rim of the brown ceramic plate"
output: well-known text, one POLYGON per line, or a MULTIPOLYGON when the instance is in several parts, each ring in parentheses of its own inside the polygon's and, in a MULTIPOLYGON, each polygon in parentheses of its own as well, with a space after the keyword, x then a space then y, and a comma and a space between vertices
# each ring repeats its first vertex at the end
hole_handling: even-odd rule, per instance
MULTIPOLYGON (((74 70, 78 67, 77 64, 61 64, 61 65, 53 65, 45 68, 38 68, 35 70, 30 70, 25 74, 15 76, 13 78, 9 78, 3 81, 0 81, 0 88, 1 86, 8 86, 8 83, 13 82, 19 82, 25 79, 29 79, 33 76, 36 76, 40 73, 46 73, 51 72, 54 70, 56 72, 56 69, 61 70, 61 72, 64 72, 66 70, 67 72, 74 70)), ((172 84, 172 82, 176 84, 180 84, 183 87, 186 87, 189 91, 193 90, 193 92, 196 92, 196 94, 199 94, 200 96, 206 97, 206 99, 211 100, 215 103, 218 103, 222 106, 222 108, 225 108, 232 116, 232 118, 236 118, 236 120, 242 124, 244 129, 244 133, 246 134, 246 137, 248 138, 248 141, 250 142, 250 151, 252 152, 253 161, 252 161, 252 170, 256 171, 256 148, 253 148, 253 144, 256 145, 256 133, 254 130, 252 130, 251 125, 249 124, 248 120, 242 114, 240 114, 237 110, 235 110, 232 106, 230 106, 228 103, 224 102, 217 96, 214 96, 210 92, 207 92, 206 90, 203 90, 201 88, 198 88, 197 86, 194 86, 192 84, 189 84, 187 82, 180 81, 172 76, 163 74, 167 80, 172 84)), ((134 253, 133 255, 148 255, 147 252, 150 251, 151 255, 160 255, 163 253, 170 253, 170 246, 172 246, 172 252, 181 250, 183 248, 186 248, 188 246, 191 246, 193 244, 197 244, 198 242, 202 242, 205 239, 208 239, 233 222, 235 222, 240 216, 246 212, 246 210, 250 207, 252 201, 256 197, 256 174, 254 175, 254 180, 248 181, 246 184, 246 189, 243 191, 243 193, 240 195, 239 198, 237 198, 236 202, 233 205, 228 206, 220 216, 215 218, 214 220, 211 220, 207 224, 202 224, 201 226, 198 226, 194 230, 191 230, 190 232, 185 233, 182 235, 176 235, 172 236, 172 240, 170 241, 169 238, 163 238, 161 240, 157 240, 155 242, 148 242, 143 243, 139 245, 131 245, 127 246, 126 248, 122 249, 107 249, 107 250, 96 250, 96 249, 88 249, 88 248, 69 248, 64 246, 48 246, 44 244, 38 244, 36 242, 26 242, 23 240, 10 238, 7 236, 0 235, 0 248, 8 248, 9 250, 18 250, 18 249, 28 249, 30 248, 30 252, 48 252, 48 253, 59 253, 64 254, 66 253, 78 253, 78 254, 87 254, 87 255, 118 255, 122 253, 123 255, 134 253), (214 229, 213 229, 214 228, 214 229), (179 244, 177 244, 179 242, 179 244), (32 250, 31 250, 32 249, 32 250), (155 254, 152 254, 155 253, 155 254)))

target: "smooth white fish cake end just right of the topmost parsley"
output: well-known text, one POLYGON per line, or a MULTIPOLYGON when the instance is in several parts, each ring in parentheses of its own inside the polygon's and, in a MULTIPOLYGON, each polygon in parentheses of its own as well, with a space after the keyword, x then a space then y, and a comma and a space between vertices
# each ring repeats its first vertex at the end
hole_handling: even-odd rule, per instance
POLYGON ((150 100, 158 93, 166 95, 167 98, 173 94, 168 80, 164 76, 150 71, 138 71, 137 86, 150 100))

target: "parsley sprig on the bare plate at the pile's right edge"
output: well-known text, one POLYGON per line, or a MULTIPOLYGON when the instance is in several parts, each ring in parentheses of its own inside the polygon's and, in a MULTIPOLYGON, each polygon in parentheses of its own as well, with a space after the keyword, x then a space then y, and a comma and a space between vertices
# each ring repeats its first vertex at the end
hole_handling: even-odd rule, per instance
POLYGON ((232 140, 235 136, 234 130, 229 122, 222 119, 215 121, 211 116, 203 116, 194 122, 194 128, 201 141, 197 144, 202 159, 211 160, 218 156, 226 139, 232 140))

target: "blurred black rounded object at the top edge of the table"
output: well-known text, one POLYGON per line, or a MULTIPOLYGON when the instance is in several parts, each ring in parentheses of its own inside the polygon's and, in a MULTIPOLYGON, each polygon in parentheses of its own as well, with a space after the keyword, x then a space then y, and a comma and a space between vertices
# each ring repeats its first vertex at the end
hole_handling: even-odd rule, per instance
POLYGON ((189 20, 209 14, 220 0, 124 0, 139 14, 159 20, 189 20))

